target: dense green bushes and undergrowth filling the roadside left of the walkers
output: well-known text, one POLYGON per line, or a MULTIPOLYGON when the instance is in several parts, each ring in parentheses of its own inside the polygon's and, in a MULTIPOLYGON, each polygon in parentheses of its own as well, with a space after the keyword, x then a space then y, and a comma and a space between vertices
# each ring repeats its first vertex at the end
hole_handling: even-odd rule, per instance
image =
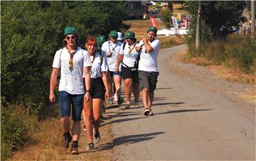
POLYGON ((42 146, 34 147, 26 160, 50 160, 50 153, 43 150, 59 147, 62 139, 58 107, 49 104, 48 94, 63 29, 74 26, 83 47, 88 35, 127 30, 126 5, 126 1, 1 2, 1 160, 33 145, 42 146))

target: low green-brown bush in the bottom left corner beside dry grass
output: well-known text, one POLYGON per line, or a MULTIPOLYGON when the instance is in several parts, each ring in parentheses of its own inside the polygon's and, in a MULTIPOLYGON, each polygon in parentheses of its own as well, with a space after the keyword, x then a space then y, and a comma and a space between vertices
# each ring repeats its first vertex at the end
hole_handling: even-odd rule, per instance
POLYGON ((33 143, 32 135, 38 126, 38 118, 23 105, 1 106, 1 160, 11 156, 12 150, 33 143))

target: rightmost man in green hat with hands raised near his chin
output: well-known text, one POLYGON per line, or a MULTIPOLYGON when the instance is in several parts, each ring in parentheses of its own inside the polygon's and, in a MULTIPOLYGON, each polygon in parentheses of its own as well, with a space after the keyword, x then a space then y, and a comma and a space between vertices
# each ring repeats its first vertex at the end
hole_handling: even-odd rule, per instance
POLYGON ((140 52, 139 88, 142 90, 145 116, 153 116, 151 106, 159 75, 157 56, 159 54, 160 41, 155 39, 156 33, 157 29, 151 26, 147 31, 147 38, 143 38, 136 47, 137 52, 140 52))

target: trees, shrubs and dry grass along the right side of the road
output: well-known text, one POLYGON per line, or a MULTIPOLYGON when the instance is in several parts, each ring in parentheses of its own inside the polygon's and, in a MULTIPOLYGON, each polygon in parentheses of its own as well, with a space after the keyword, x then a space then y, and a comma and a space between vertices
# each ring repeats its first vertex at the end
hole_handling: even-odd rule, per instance
POLYGON ((241 16, 245 2, 202 1, 201 45, 198 49, 195 43, 198 2, 190 1, 187 5, 188 11, 192 14, 192 21, 189 34, 186 36, 188 53, 185 60, 196 62, 197 65, 215 65, 215 69, 219 69, 215 72, 225 79, 255 83, 255 39, 250 38, 249 35, 238 35, 233 30, 238 28, 240 22, 245 21, 241 16), (221 21, 212 21, 213 19, 221 21))

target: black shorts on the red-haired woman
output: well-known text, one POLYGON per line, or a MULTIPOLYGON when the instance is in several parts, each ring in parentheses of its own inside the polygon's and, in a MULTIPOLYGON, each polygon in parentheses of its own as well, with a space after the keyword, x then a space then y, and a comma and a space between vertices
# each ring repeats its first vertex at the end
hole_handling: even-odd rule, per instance
POLYGON ((95 79, 91 78, 90 95, 92 96, 92 99, 105 99, 105 92, 106 90, 102 77, 95 79))

